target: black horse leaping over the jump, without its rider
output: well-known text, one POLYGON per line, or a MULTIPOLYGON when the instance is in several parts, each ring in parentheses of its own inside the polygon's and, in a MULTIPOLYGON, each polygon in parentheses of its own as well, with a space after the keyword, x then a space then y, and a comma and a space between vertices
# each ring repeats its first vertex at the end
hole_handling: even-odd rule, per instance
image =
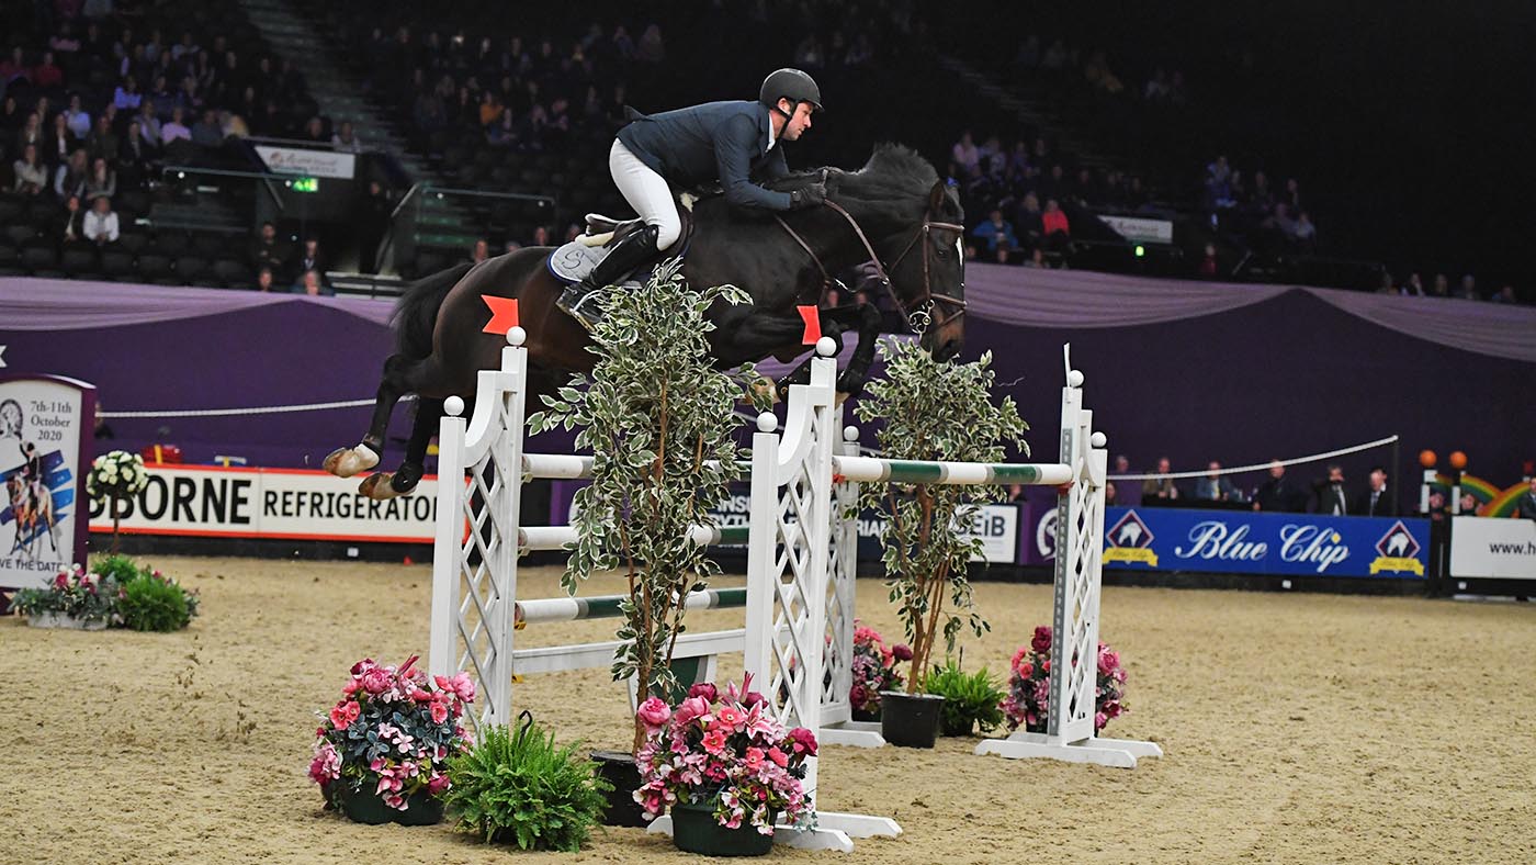
MULTIPOLYGON (((768 356, 788 361, 805 353, 805 323, 796 307, 817 304, 833 273, 860 264, 874 267, 897 307, 922 332, 925 349, 938 358, 958 353, 965 336, 965 229, 954 191, 926 160, 895 144, 876 147, 856 172, 822 174, 826 206, 783 214, 779 224, 737 212, 722 197, 694 206, 684 277, 694 286, 730 283, 753 298, 750 306, 722 301, 710 310, 716 324, 710 347, 719 364, 733 367, 768 356)), ((808 177, 782 183, 805 183, 808 177)), ((501 363, 507 341, 482 330, 490 307, 481 295, 518 298, 536 390, 551 392, 571 372, 591 370, 587 332, 554 306, 564 286, 545 267, 548 254, 548 247, 519 249, 406 289, 395 310, 398 350, 384 363, 373 423, 362 444, 332 452, 326 470, 350 478, 376 466, 395 403, 415 393, 416 419, 404 462, 395 473, 370 475, 359 492, 386 499, 416 487, 442 401, 458 395, 470 403, 476 373, 501 363)), ((880 313, 874 304, 823 309, 820 326, 834 340, 848 330, 859 333, 839 390, 860 390, 874 360, 880 313)))

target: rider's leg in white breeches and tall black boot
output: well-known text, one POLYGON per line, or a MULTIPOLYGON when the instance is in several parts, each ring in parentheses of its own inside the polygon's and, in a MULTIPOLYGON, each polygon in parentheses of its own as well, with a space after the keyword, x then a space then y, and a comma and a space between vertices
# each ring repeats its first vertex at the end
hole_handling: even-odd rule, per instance
POLYGON ((645 227, 614 244, 608 255, 591 269, 591 273, 587 273, 587 278, 561 293, 559 307, 588 327, 601 318, 601 309, 591 300, 599 289, 648 263, 657 252, 677 243, 679 235, 682 235, 682 220, 677 217, 671 187, 662 175, 636 158, 622 141, 613 143, 608 154, 608 169, 613 172, 613 181, 619 192, 645 220, 645 227))

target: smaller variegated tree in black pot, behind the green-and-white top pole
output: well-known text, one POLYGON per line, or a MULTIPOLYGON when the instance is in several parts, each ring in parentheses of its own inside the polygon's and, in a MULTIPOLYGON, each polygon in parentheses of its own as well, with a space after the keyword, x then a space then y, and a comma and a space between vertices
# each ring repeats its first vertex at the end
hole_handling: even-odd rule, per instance
MULTIPOLYGON (((968 364, 940 363, 915 343, 880 344, 885 376, 869 384, 856 413, 882 421, 876 439, 889 459, 998 462, 1006 446, 1018 447, 1028 424, 1014 401, 992 403, 991 352, 968 364)), ((969 627, 989 630, 975 610, 966 565, 982 550, 978 538, 962 532, 983 502, 1003 501, 1000 486, 868 484, 863 505, 886 521, 882 562, 891 602, 912 647, 905 691, 880 694, 882 734, 895 745, 931 748, 938 733, 943 698, 922 693, 934 648, 954 650, 969 627)))

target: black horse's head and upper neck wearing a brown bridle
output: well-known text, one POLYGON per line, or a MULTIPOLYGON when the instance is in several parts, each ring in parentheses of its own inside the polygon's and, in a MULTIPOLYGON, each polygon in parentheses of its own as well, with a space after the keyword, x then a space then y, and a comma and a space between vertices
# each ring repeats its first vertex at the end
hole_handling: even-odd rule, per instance
POLYGON ((857 172, 837 178, 839 201, 865 223, 891 298, 938 360, 965 343, 965 212, 917 152, 880 144, 857 172))

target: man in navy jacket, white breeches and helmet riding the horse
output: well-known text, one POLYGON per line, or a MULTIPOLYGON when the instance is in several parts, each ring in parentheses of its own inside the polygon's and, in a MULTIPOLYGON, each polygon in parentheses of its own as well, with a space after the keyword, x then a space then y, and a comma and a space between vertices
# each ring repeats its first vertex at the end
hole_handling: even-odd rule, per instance
POLYGON ((825 201, 825 183, 776 192, 753 180, 790 174, 777 143, 803 135, 811 128, 811 114, 820 108, 822 91, 809 75, 779 69, 763 80, 756 103, 711 101, 653 115, 627 109, 631 123, 619 129, 608 151, 608 171, 645 227, 614 244, 587 278, 565 289, 558 306, 590 329, 601 318, 599 304, 591 300, 601 289, 677 243, 682 218, 671 184, 697 187, 719 181, 733 206, 763 210, 796 210, 825 201))

